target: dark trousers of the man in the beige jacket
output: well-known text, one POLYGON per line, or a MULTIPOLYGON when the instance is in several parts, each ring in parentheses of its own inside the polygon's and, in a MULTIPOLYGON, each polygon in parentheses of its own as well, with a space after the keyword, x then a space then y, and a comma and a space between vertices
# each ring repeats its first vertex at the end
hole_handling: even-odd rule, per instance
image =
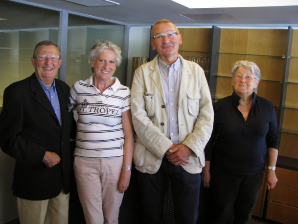
POLYGON ((138 172, 143 224, 162 224, 164 197, 171 180, 176 224, 196 224, 199 215, 201 174, 189 174, 163 158, 156 174, 138 172))

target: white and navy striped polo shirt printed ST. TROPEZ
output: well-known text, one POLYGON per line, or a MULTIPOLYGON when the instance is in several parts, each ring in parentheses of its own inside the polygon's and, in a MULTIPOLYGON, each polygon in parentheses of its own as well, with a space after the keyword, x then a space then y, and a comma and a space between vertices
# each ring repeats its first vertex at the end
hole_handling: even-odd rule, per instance
POLYGON ((103 93, 93 76, 77 81, 70 89, 70 102, 77 106, 78 121, 74 155, 91 158, 123 156, 122 112, 129 110, 130 89, 115 83, 103 93))

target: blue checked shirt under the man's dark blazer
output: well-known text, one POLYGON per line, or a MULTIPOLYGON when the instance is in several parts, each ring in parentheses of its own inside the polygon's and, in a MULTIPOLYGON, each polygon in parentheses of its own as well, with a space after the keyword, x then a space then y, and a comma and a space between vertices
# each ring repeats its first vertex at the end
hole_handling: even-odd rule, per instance
POLYGON ((61 126, 62 121, 61 121, 61 112, 60 112, 60 104, 59 104, 59 98, 58 98, 58 94, 56 91, 56 85, 55 85, 55 79, 53 80, 53 85, 52 87, 48 87, 42 80, 40 80, 39 78, 37 78, 37 80, 39 81, 39 83, 41 84, 43 90, 46 93, 46 96, 48 98, 48 100, 51 102, 52 107, 56 113, 56 116, 58 118, 59 124, 61 126))

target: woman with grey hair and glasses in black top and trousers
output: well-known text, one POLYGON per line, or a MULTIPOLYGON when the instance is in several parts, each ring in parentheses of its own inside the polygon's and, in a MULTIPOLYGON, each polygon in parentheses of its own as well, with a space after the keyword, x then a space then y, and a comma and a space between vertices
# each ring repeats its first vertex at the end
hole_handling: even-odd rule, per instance
POLYGON ((206 146, 202 181, 211 189, 213 222, 250 224, 265 164, 268 189, 277 182, 278 130, 274 105, 256 96, 261 73, 254 62, 237 61, 232 68, 231 96, 214 103, 214 126, 206 146))

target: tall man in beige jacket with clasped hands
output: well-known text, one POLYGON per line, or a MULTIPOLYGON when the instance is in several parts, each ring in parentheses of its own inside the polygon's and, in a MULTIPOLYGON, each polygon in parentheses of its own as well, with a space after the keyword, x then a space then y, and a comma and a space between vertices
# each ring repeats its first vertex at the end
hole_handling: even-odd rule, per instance
POLYGON ((142 223, 163 223, 170 178, 176 224, 196 224, 204 148, 213 126, 210 91, 203 69, 178 54, 182 37, 176 25, 158 21, 151 44, 159 54, 136 70, 131 96, 142 223))

